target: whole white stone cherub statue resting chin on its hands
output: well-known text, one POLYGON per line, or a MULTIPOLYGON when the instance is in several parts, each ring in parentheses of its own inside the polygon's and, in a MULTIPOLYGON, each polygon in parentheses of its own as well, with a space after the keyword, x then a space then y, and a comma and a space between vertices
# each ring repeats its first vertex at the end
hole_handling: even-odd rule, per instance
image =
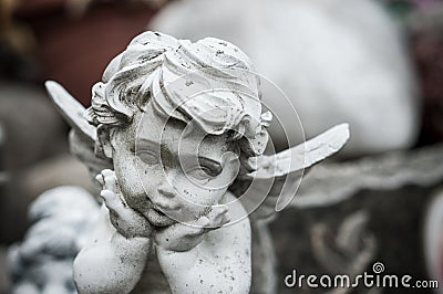
POLYGON ((109 64, 86 111, 47 82, 72 151, 102 187, 73 262, 79 293, 274 291, 267 221, 349 132, 264 155, 271 114, 259 81, 226 41, 145 32, 109 64))

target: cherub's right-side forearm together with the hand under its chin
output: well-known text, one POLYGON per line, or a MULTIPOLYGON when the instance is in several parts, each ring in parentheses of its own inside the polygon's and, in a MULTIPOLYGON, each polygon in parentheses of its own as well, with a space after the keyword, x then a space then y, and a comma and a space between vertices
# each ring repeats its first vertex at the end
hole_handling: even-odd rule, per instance
MULTIPOLYGON (((234 196, 225 200, 231 216, 246 213, 234 196)), ((177 223, 156 235, 156 255, 172 293, 249 293, 249 220, 223 225, 228 219, 227 207, 216 206, 194 227, 177 223)))

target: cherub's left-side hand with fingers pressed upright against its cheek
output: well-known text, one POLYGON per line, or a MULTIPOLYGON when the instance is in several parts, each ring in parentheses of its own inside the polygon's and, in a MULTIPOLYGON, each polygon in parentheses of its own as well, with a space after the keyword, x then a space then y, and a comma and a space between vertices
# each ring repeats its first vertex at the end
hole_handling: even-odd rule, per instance
POLYGON ((103 187, 100 196, 110 210, 111 222, 117 232, 125 238, 150 237, 152 233, 150 222, 142 214, 127 206, 119 187, 115 172, 110 169, 104 169, 96 176, 96 180, 103 187))

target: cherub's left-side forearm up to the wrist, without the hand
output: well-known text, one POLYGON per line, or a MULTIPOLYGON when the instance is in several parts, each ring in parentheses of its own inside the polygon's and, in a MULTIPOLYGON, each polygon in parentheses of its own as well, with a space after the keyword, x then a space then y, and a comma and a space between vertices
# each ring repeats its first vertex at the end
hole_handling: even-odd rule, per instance
POLYGON ((74 261, 79 293, 130 293, 138 282, 151 250, 151 240, 125 238, 102 207, 96 228, 74 261))

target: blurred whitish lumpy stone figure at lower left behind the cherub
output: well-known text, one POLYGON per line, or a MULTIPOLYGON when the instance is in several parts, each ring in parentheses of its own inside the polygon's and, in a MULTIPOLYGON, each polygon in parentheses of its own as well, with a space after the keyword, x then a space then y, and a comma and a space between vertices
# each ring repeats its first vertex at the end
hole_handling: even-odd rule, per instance
POLYGON ((24 240, 9 248, 11 293, 76 293, 72 263, 99 212, 93 197, 79 187, 39 196, 29 209, 32 225, 24 240))

